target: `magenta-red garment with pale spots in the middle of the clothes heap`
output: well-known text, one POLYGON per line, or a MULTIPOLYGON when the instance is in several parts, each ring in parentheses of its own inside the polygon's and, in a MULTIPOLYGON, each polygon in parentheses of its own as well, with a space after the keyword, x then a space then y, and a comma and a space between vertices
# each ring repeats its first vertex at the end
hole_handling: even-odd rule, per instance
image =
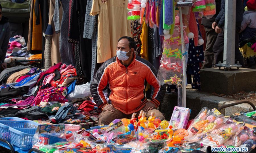
POLYGON ((68 102, 65 98, 67 95, 67 87, 60 87, 54 89, 54 87, 46 88, 37 92, 35 99, 31 105, 39 105, 41 101, 58 101, 60 103, 68 102))

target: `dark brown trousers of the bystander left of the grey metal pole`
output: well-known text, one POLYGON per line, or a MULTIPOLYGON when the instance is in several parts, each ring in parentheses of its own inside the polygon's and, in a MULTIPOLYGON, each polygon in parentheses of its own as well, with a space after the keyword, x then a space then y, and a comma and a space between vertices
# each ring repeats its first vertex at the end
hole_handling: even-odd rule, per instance
POLYGON ((202 69, 213 67, 213 45, 217 39, 218 33, 211 27, 204 27, 206 33, 206 47, 204 51, 204 65, 202 69))

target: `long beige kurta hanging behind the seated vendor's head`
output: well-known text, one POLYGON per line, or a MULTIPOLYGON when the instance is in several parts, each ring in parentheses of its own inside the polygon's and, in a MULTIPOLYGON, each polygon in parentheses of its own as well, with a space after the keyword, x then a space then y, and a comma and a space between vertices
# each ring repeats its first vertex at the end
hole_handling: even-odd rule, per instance
POLYGON ((128 0, 92 1, 90 15, 98 17, 97 62, 102 63, 116 56, 117 41, 132 36, 131 23, 127 20, 128 0))

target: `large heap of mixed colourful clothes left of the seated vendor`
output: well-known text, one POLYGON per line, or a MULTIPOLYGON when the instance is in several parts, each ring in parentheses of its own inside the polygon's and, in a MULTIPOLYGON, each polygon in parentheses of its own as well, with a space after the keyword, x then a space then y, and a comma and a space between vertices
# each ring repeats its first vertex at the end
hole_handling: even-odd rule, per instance
POLYGON ((0 74, 0 117, 52 120, 78 124, 97 121, 100 110, 93 102, 90 83, 73 65, 58 63, 47 70, 16 66, 0 74))

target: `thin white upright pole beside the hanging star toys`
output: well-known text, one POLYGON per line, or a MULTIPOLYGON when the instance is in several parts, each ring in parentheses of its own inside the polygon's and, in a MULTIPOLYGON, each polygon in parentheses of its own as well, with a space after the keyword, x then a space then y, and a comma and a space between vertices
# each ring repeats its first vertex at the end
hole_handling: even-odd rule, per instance
POLYGON ((184 33, 183 33, 183 21, 182 11, 180 7, 180 35, 181 35, 181 47, 182 47, 182 107, 186 107, 186 58, 185 58, 185 46, 184 46, 184 33))

